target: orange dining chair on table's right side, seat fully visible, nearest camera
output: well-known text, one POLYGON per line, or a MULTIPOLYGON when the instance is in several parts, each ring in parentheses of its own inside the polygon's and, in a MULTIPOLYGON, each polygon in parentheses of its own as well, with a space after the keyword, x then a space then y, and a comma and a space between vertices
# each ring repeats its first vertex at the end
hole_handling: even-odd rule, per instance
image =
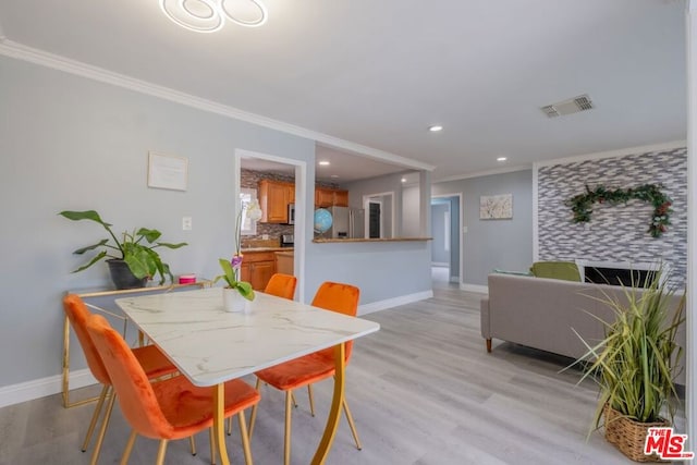
MULTIPOLYGON (((356 311, 358 310, 359 296, 360 291, 356 286, 335 282, 325 282, 317 290, 311 305, 355 317, 356 311)), ((346 342, 345 347, 345 363, 347 364, 351 358, 353 341, 346 342)), ((315 382, 334 376, 334 348, 329 347, 255 374, 257 376, 257 390, 260 388, 261 381, 264 381, 276 389, 285 391, 285 436, 283 449, 283 463, 285 465, 291 462, 291 406, 293 390, 307 386, 310 395, 310 408, 314 415, 311 390, 309 388, 315 382)), ((343 401, 343 408, 346 414, 346 419, 348 420, 348 426, 351 427, 353 439, 356 442, 356 448, 360 450, 360 440, 358 439, 356 426, 353 421, 353 416, 351 415, 345 397, 343 401)), ((252 408, 249 436, 254 432, 257 405, 252 408)))

